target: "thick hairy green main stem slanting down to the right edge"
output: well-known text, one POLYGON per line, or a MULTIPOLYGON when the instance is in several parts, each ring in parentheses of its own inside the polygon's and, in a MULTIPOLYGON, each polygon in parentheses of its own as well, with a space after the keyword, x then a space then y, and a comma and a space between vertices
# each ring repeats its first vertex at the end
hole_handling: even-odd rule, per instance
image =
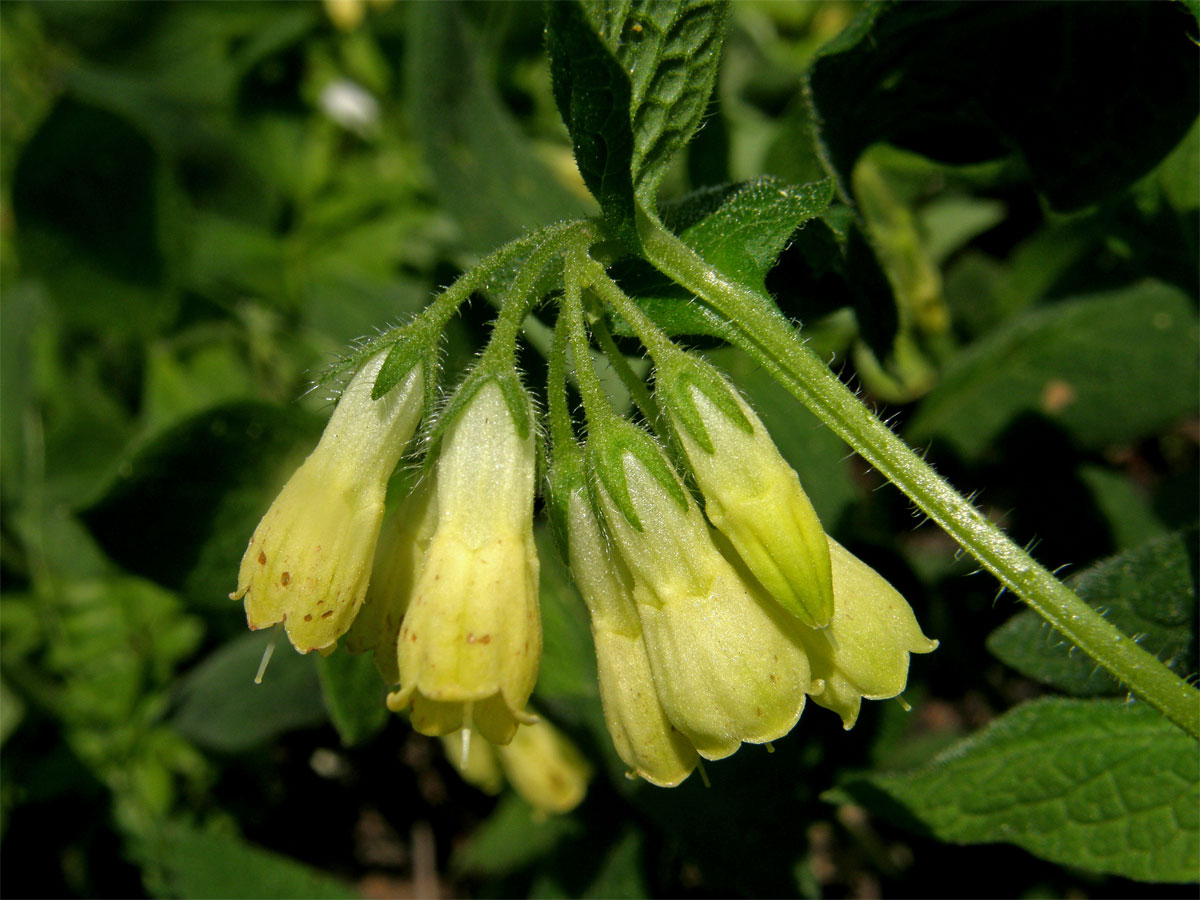
POLYGON ((638 234, 649 260, 731 322, 730 337, 1000 582, 1135 696, 1200 738, 1200 691, 1085 604, 989 522, 842 384, 770 300, 728 280, 659 222, 638 234))

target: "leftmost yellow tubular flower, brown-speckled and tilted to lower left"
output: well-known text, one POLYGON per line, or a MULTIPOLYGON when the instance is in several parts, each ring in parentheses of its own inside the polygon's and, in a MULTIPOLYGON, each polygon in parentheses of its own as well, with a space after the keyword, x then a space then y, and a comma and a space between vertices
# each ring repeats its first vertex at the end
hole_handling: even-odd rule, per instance
POLYGON ((254 529, 230 594, 245 598, 251 629, 282 622, 300 653, 331 652, 358 614, 388 479, 421 418, 420 366, 371 400, 386 355, 347 385, 317 449, 254 529))

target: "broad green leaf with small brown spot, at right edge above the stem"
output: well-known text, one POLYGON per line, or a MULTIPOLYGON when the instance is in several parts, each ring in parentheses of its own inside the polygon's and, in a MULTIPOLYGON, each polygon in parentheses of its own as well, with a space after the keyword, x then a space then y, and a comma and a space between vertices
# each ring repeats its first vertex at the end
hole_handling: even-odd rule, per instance
POLYGON ((1193 301, 1159 282, 1063 300, 955 358, 907 438, 976 460, 1018 416, 1042 415, 1082 446, 1138 440, 1195 409, 1196 338, 1193 301))

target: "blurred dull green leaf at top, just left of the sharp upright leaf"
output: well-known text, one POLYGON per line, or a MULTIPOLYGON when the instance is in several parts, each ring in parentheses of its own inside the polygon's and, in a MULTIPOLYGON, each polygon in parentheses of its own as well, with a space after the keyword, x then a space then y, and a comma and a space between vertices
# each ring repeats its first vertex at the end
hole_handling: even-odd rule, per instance
POLYGON ((488 48, 456 4, 410 8, 408 103, 438 196, 479 253, 587 212, 538 161, 482 65, 488 48))

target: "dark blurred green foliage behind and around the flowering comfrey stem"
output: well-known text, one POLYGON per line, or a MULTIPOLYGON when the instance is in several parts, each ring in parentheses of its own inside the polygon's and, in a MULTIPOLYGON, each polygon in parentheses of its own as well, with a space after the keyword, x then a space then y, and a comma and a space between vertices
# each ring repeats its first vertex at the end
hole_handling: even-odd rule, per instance
MULTIPOLYGON (((768 275, 781 306, 1014 538, 1194 673, 1195 19, 1174 4, 859 12, 734 4, 664 199, 836 173, 857 214, 797 233, 768 275)), ((1022 701, 1120 688, 730 349, 713 354, 826 527, 942 642, 913 660, 911 713, 871 704, 842 733, 812 708, 774 752, 710 766, 712 787, 628 781, 548 541, 535 700, 598 773, 572 814, 464 785, 385 714, 364 659, 281 652, 252 684, 268 638, 228 593, 330 408, 314 372, 502 241, 593 211, 541 14, 0 5, 5 893, 1145 892, 1082 859, 952 850, 856 790, 1022 701)), ((478 300, 452 324, 448 383, 488 313, 478 300)))

